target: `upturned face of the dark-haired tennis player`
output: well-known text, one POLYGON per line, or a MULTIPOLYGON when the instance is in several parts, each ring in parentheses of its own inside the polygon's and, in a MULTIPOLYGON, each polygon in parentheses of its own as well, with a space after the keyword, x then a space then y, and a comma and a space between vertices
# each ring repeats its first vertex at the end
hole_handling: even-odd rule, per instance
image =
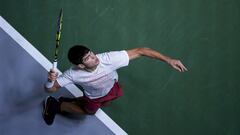
POLYGON ((97 65, 99 64, 99 59, 92 51, 89 51, 83 57, 82 64, 85 66, 85 68, 92 69, 92 68, 97 67, 97 65))

